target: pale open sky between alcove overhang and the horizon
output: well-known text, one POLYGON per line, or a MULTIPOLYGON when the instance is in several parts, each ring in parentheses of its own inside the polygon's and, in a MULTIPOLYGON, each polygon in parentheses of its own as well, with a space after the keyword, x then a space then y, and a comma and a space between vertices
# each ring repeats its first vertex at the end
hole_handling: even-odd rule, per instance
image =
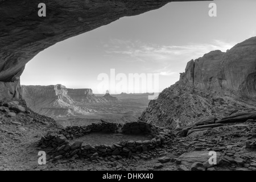
MULTIPOLYGON (((147 81, 158 75, 158 82, 151 82, 161 92, 179 80, 179 73, 191 59, 216 49, 225 52, 256 36, 255 0, 213 2, 217 5, 216 17, 208 14, 212 2, 171 2, 56 43, 27 63, 21 84, 61 84, 91 88, 93 93, 108 89, 111 94, 132 92, 125 82, 117 89, 118 74, 129 82, 129 74, 138 73, 146 75, 147 81)), ((134 92, 145 92, 143 86, 142 80, 137 87, 134 84, 134 92)))

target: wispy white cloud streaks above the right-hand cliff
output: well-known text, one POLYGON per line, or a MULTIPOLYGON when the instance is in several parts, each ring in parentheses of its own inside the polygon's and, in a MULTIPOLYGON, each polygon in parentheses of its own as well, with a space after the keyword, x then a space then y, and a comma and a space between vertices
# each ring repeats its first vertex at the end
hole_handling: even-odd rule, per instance
POLYGON ((225 52, 236 43, 212 40, 210 43, 188 43, 181 46, 156 45, 139 40, 111 39, 105 47, 108 56, 123 61, 143 63, 147 70, 162 76, 171 76, 183 72, 185 64, 191 59, 202 57, 214 50, 225 52))

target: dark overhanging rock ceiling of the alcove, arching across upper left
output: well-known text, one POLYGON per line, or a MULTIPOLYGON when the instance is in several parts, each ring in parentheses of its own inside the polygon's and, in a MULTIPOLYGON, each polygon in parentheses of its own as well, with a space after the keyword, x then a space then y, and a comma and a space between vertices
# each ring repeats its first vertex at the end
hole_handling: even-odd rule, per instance
POLYGON ((0 1, 0 81, 9 82, 0 85, 0 99, 20 98, 19 88, 16 94, 9 93, 15 88, 13 81, 18 84, 26 63, 43 49, 123 16, 159 9, 168 2, 171 0, 52 0, 46 2, 46 17, 39 17, 40 1, 0 1))

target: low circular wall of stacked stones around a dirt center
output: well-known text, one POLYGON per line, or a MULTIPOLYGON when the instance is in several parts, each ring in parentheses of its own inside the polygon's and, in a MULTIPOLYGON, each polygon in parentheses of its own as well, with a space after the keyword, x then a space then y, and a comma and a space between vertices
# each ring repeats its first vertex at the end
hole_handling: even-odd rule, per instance
POLYGON ((47 134, 41 138, 39 146, 50 149, 48 155, 51 155, 52 160, 81 158, 93 162, 97 159, 107 158, 114 161, 122 158, 130 159, 134 155, 142 154, 144 151, 160 148, 162 144, 169 142, 174 137, 175 135, 170 130, 146 122, 128 122, 122 127, 117 123, 102 122, 88 126, 69 126, 56 131, 56 133, 47 134), (79 141, 73 144, 69 142, 73 138, 79 138, 91 132, 144 133, 150 135, 151 139, 120 141, 112 145, 96 144, 94 146, 83 145, 79 141))

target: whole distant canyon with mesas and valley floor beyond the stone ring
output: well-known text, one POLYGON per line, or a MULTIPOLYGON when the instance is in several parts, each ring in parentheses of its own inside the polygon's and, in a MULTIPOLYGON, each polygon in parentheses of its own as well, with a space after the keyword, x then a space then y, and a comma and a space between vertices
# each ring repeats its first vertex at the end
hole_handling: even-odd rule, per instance
POLYGON ((22 85, 22 97, 36 113, 56 119, 63 126, 88 125, 101 119, 137 121, 148 105, 148 94, 93 94, 92 89, 70 89, 61 84, 22 85))

